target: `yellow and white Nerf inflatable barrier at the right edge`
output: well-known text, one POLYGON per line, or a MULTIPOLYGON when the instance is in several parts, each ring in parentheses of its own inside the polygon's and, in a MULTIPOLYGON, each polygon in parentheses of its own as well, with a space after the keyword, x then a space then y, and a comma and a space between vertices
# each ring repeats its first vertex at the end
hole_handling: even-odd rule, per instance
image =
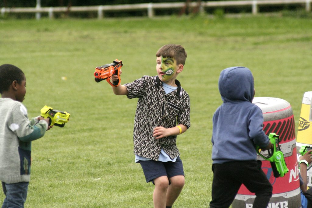
MULTIPOLYGON (((297 154, 302 146, 312 147, 312 92, 305 92, 302 99, 301 112, 297 133, 297 154)), ((312 186, 312 168, 307 172, 308 186, 312 186)))

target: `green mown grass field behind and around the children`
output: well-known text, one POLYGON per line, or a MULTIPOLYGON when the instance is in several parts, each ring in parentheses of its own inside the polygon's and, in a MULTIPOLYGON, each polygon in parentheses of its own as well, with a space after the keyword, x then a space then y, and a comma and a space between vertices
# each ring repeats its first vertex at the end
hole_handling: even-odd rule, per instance
POLYGON ((156 75, 156 51, 168 43, 188 53, 178 80, 191 98, 191 127, 177 140, 186 185, 173 207, 202 208, 211 200, 211 120, 221 104, 222 69, 250 68, 256 97, 288 101, 297 128, 303 93, 312 90, 311 19, 0 20, 0 65, 24 71, 29 117, 44 105, 71 113, 64 128, 32 143, 27 208, 153 207, 154 187, 134 163, 137 99, 114 95, 106 81, 94 81, 93 72, 119 59, 123 84, 156 75))

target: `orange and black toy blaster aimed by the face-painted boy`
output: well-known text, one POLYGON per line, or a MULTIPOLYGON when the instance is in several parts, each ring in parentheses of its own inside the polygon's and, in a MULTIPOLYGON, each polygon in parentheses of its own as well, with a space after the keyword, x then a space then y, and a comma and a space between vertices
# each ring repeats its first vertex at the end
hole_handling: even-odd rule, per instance
POLYGON ((120 76, 119 76, 119 71, 120 68, 122 67, 122 62, 121 60, 119 61, 118 59, 114 60, 113 63, 111 64, 105 64, 103 66, 98 66, 95 68, 94 72, 94 80, 96 82, 100 82, 102 80, 106 80, 110 85, 113 87, 117 87, 120 84, 120 76), (110 78, 113 75, 118 76, 118 80, 114 81, 113 84, 110 82, 110 78))

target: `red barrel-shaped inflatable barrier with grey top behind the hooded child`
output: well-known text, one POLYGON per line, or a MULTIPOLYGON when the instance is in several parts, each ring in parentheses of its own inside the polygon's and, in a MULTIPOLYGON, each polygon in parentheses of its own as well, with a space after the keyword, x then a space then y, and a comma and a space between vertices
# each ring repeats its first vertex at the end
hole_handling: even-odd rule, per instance
MULTIPOLYGON (((262 170, 273 186, 273 195, 268 207, 301 208, 299 169, 295 138, 294 114, 290 104, 279 98, 255 97, 253 104, 263 112, 263 130, 266 135, 276 133, 280 136, 280 149, 284 154, 289 172, 284 177, 275 178, 269 161, 258 156, 262 170)), ((256 196, 244 185, 239 189, 232 208, 251 208, 256 196)))

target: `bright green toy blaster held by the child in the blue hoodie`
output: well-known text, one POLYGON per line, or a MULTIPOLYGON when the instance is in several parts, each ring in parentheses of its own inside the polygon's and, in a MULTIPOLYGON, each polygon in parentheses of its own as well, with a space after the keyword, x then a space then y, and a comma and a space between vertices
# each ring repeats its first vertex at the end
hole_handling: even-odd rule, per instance
MULTIPOLYGON (((275 178, 284 177, 288 173, 288 168, 285 163, 284 154, 280 151, 280 137, 275 133, 269 134, 270 142, 273 144, 273 148, 267 150, 268 155, 261 154, 262 150, 259 146, 256 146, 257 153, 264 159, 271 162, 273 174, 275 178)), ((265 151, 266 152, 266 151, 265 151)))

